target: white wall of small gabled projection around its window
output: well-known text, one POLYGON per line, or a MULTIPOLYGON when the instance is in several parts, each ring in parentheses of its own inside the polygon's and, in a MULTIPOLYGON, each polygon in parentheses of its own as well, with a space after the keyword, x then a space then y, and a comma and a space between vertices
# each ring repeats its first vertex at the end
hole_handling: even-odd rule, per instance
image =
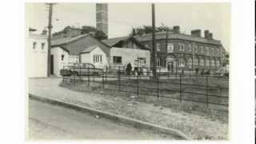
POLYGON ((99 47, 90 51, 90 53, 81 54, 81 62, 92 63, 96 68, 100 69, 103 69, 105 66, 108 66, 106 54, 99 47), (102 62, 94 62, 94 54, 102 55, 102 62))

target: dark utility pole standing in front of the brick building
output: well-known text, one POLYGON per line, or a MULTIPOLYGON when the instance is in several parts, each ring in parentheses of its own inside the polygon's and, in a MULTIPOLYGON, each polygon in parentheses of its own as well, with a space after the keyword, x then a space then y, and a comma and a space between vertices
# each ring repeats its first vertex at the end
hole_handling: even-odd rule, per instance
POLYGON ((154 3, 151 4, 152 7, 152 61, 153 61, 153 75, 154 78, 157 76, 157 70, 156 70, 156 52, 155 52, 155 47, 156 47, 156 42, 155 42, 155 15, 154 15, 154 3))

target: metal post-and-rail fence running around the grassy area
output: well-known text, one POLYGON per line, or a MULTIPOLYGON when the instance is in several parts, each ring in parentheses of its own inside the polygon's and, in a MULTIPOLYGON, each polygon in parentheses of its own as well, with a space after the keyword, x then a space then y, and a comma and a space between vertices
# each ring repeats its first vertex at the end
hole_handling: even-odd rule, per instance
POLYGON ((127 74, 118 70, 79 68, 80 73, 63 76, 63 82, 97 83, 103 90, 140 96, 171 98, 179 102, 199 102, 228 107, 228 78, 218 74, 161 73, 153 77, 150 70, 127 74), (83 73, 81 73, 83 71, 83 73))

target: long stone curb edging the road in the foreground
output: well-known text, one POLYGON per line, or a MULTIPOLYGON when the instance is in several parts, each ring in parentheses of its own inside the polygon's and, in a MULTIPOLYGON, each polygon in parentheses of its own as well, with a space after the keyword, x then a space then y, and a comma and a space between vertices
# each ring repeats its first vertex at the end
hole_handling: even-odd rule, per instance
POLYGON ((40 97, 40 96, 37 96, 34 94, 29 94, 29 98, 38 100, 41 102, 49 102, 54 105, 64 106, 64 107, 67 107, 70 109, 74 109, 74 110, 78 110, 78 111, 82 111, 82 112, 86 112, 86 113, 90 113, 90 114, 94 114, 94 115, 101 115, 103 118, 113 120, 114 122, 122 122, 127 125, 134 126, 135 128, 153 130, 154 132, 162 133, 162 134, 171 134, 171 135, 174 135, 175 138, 178 138, 181 140, 190 140, 191 139, 188 136, 186 136, 186 134, 183 134, 179 130, 174 130, 174 129, 154 125, 149 122, 142 122, 142 121, 134 119, 134 118, 127 118, 127 117, 123 117, 123 116, 120 116, 117 114, 111 114, 111 113, 108 113, 108 112, 105 112, 102 110, 95 110, 95 109, 92 109, 87 106, 78 106, 76 104, 71 104, 70 102, 62 102, 60 100, 56 100, 53 98, 40 97))

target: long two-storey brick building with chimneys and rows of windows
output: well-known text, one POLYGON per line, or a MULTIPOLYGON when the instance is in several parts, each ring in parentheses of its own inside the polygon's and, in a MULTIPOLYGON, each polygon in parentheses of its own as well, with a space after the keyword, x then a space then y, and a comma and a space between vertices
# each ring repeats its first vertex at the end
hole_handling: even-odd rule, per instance
MULTIPOLYGON (((135 36, 152 51, 152 34, 135 36)), ((160 70, 218 70, 222 66, 225 51, 222 43, 213 38, 209 30, 191 30, 191 34, 180 33, 174 26, 170 32, 156 33, 157 66, 160 70)))

